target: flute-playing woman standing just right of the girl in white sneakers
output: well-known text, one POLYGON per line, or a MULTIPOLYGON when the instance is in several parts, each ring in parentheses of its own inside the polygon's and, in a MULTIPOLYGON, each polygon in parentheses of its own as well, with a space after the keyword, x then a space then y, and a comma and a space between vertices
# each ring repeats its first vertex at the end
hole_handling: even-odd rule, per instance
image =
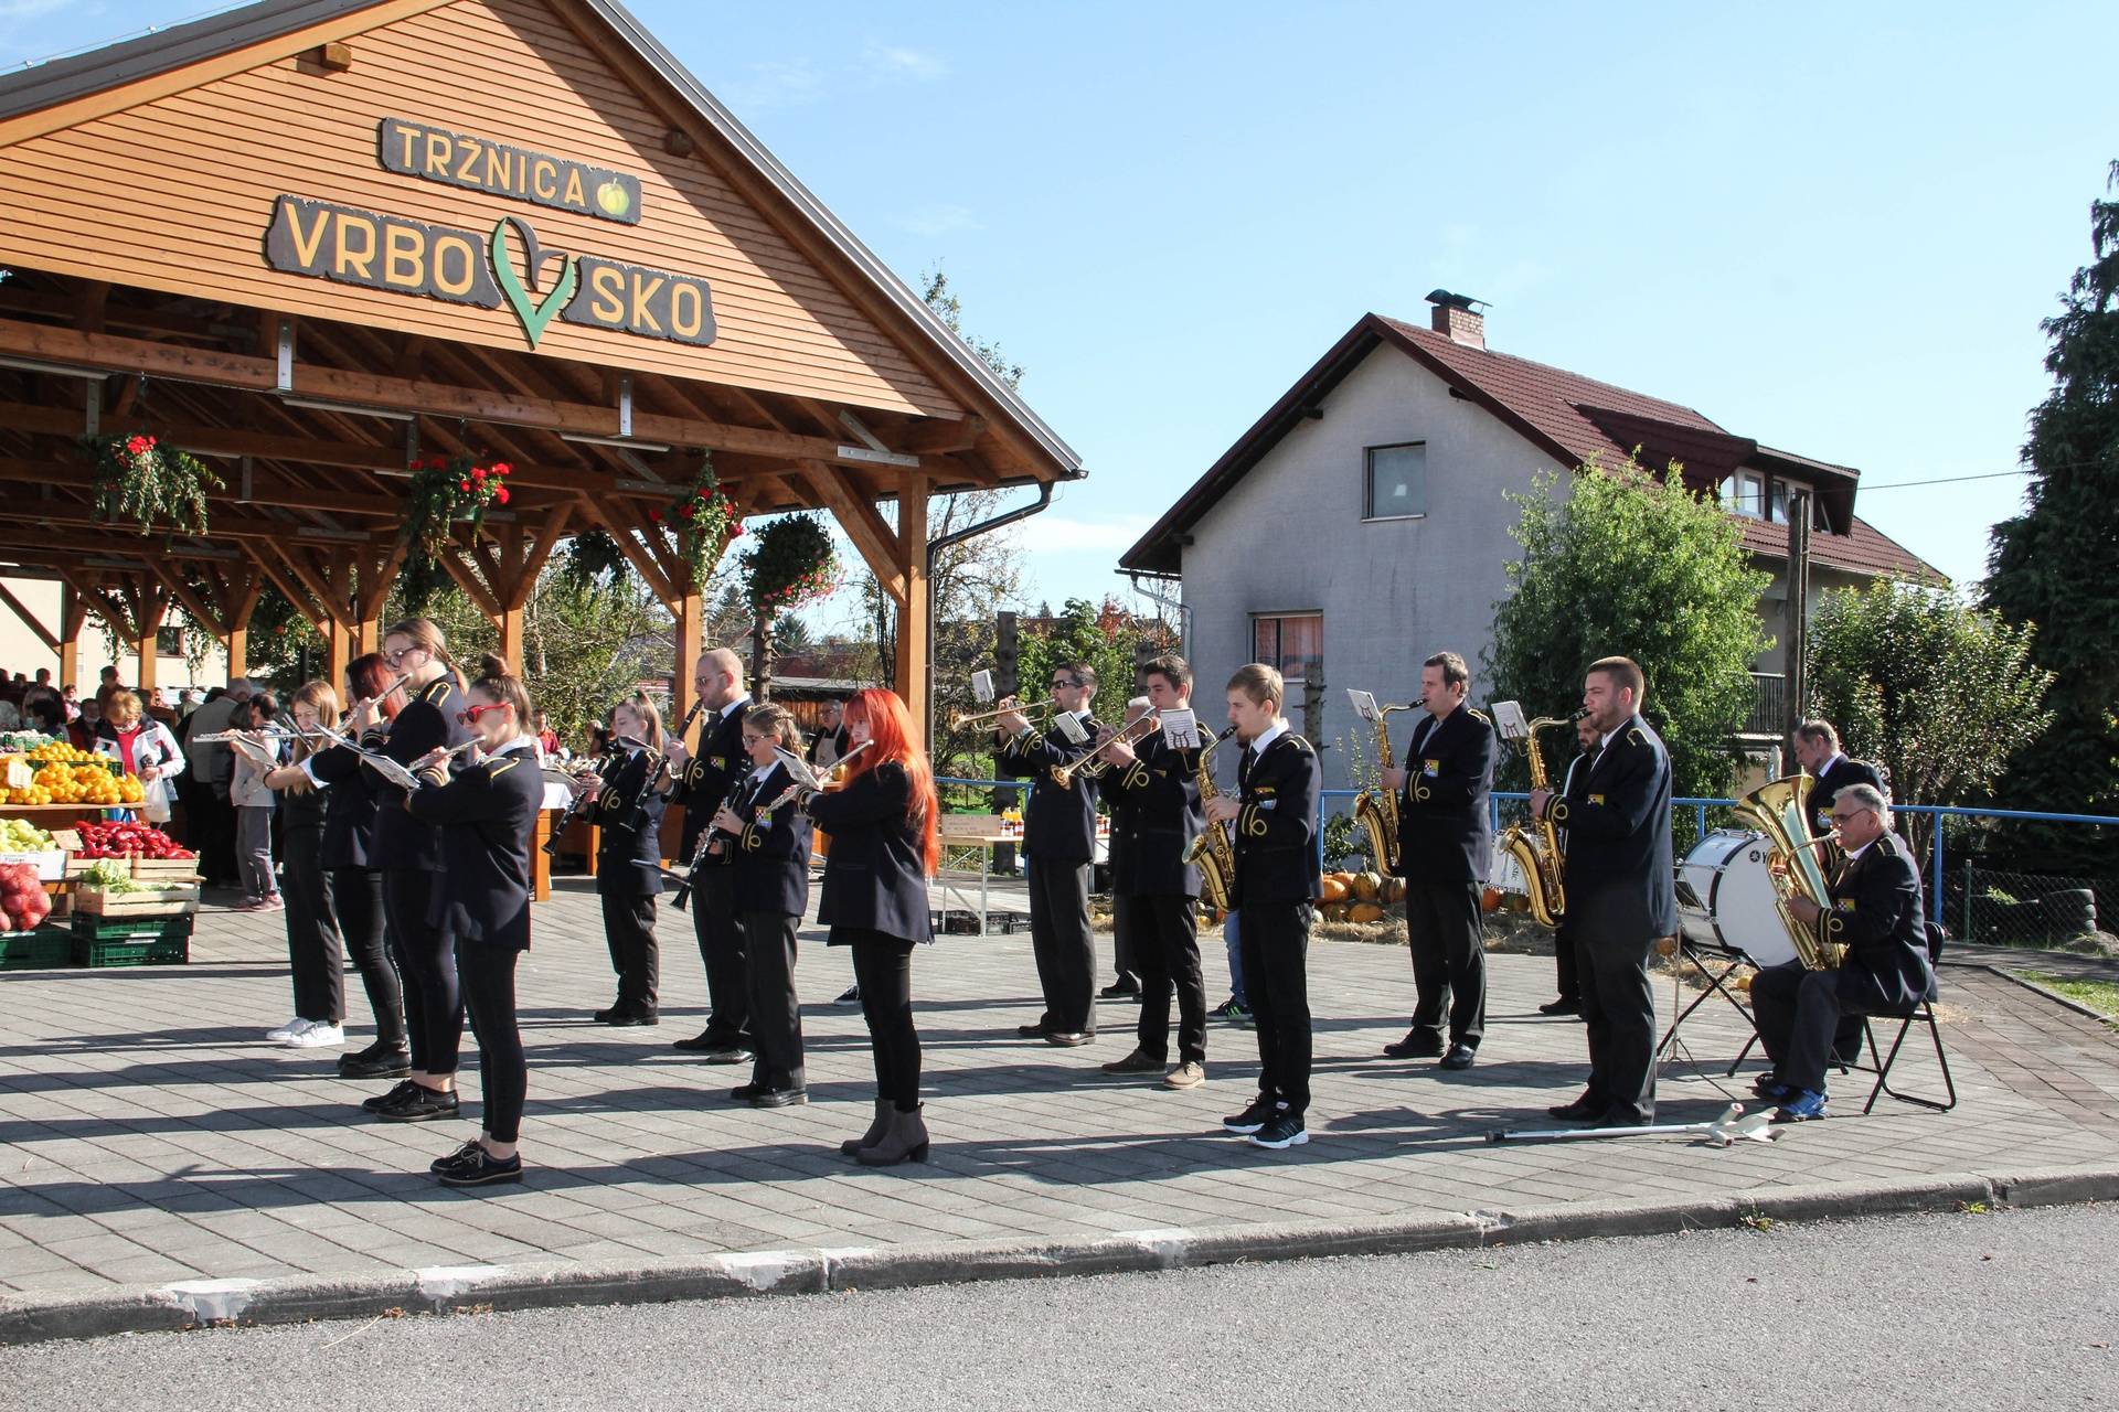
MULTIPOLYGON (((398 696, 386 694, 390 665, 381 652, 367 652, 345 665, 350 701, 381 699, 384 722, 394 722, 398 696)), ((337 709, 322 724, 337 724, 337 709)), ((375 788, 373 771, 360 768, 350 749, 324 749, 297 766, 324 788, 324 870, 331 874, 331 902, 339 915, 339 934, 360 972, 375 1016, 375 1042, 354 1054, 339 1054, 339 1078, 400 1080, 411 1073, 411 1052, 405 1044, 405 978, 384 938, 384 874, 373 864, 375 853, 375 788)))

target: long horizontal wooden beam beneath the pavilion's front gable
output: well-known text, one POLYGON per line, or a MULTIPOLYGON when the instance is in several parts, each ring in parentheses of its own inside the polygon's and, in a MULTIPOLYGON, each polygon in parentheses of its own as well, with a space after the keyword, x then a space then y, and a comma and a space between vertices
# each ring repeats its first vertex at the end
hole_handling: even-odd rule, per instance
MULTIPOLYGON (((119 334, 89 334, 76 328, 21 324, 15 320, 0 320, 0 354, 38 358, 42 362, 57 362, 74 368, 174 377, 180 381, 237 387, 246 392, 273 392, 280 379, 275 358, 180 347, 174 343, 155 343, 150 339, 123 339, 119 334)), ((303 398, 409 411, 443 419, 453 417, 466 421, 489 421, 496 426, 576 432, 583 436, 619 434, 619 411, 615 406, 511 396, 489 387, 458 387, 451 383, 411 381, 403 377, 381 377, 375 373, 320 368, 303 362, 295 364, 292 392, 303 398)), ((640 440, 672 447, 706 447, 737 455, 769 455, 788 459, 809 457, 820 461, 841 459, 839 438, 767 432, 759 428, 729 426, 727 421, 706 421, 699 417, 634 413, 631 434, 640 440)), ((848 464, 869 464, 869 457, 848 457, 848 464)))

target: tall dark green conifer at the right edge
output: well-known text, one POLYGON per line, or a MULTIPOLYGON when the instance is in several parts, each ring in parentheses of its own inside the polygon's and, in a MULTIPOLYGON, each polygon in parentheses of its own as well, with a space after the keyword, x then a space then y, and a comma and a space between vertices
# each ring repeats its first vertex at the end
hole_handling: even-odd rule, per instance
MULTIPOLYGON (((2108 186, 2119 191, 2119 161, 2108 186)), ((2015 756, 2011 809, 2119 813, 2119 201, 2089 203, 2091 263, 2045 320, 2053 392, 2030 413, 2028 506, 1994 527, 1986 603, 2036 624, 2032 660, 2055 673, 2053 728, 2015 756)), ((1962 680, 1988 690, 1988 671, 1962 680)), ((2104 830, 2011 830, 2038 872, 2111 872, 2104 830)))

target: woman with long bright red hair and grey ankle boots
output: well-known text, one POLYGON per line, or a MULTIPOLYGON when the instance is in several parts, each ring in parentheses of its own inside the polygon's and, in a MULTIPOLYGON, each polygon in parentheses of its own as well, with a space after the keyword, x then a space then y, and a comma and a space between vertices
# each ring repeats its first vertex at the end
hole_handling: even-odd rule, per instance
POLYGON ((920 1116, 920 1031, 913 1029, 913 946, 932 942, 926 881, 941 862, 934 771, 913 745, 905 703, 877 688, 845 705, 848 749, 869 741, 845 785, 809 798, 831 834, 818 921, 833 946, 854 948, 860 1014, 875 1048, 875 1122, 839 1143, 862 1166, 928 1154, 920 1116))

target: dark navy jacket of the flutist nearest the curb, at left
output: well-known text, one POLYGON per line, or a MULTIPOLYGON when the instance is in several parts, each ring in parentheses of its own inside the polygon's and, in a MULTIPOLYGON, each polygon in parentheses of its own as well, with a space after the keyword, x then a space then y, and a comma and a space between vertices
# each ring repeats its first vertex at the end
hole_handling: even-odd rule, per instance
POLYGON ((424 779, 426 788, 411 796, 390 794, 441 840, 441 885, 428 923, 460 942, 530 951, 530 849, 545 809, 536 741, 517 741, 453 779, 441 768, 424 779))

